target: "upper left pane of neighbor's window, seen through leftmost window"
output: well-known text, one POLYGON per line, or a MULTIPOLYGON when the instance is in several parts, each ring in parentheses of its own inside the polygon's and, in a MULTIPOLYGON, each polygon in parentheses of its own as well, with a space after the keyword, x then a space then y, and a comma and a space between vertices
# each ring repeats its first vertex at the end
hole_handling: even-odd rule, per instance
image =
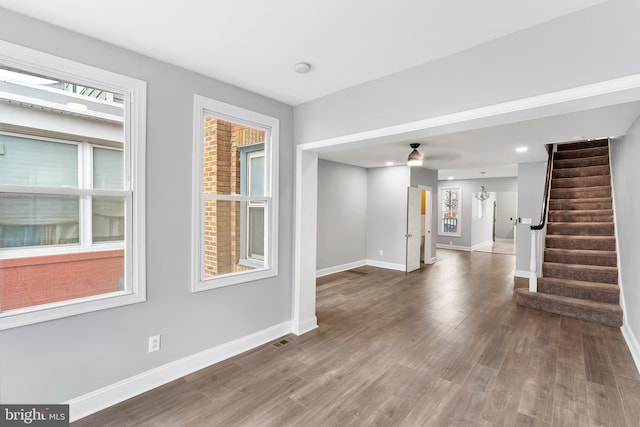
POLYGON ((0 134, 0 185, 78 186, 78 146, 0 134))

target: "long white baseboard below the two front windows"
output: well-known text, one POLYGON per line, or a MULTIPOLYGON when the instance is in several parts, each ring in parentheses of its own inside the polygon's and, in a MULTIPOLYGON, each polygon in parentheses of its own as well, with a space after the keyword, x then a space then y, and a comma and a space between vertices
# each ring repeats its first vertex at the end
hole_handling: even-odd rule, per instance
POLYGON ((65 402, 69 405, 69 418, 72 422, 84 418, 192 372, 266 344, 290 332, 291 322, 283 322, 76 397, 65 402))

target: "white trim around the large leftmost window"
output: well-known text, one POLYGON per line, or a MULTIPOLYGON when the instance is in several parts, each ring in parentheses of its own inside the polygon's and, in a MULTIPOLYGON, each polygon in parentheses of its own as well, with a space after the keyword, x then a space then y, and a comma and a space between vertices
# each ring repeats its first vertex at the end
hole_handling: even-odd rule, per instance
MULTIPOLYGON (((0 40, 0 63, 28 72, 55 76, 75 83, 125 94, 125 98, 128 100, 124 106, 125 117, 129 119, 125 120, 124 129, 124 143, 128 148, 125 150, 125 176, 129 179, 129 182, 125 183, 125 185, 133 194, 133 201, 128 205, 128 211, 125 212, 125 215, 131 218, 131 229, 125 230, 125 251, 127 254, 125 257, 125 277, 127 289, 109 294, 25 307, 4 313, 0 312, 0 330, 145 301, 146 82, 2 40, 0 40), (132 165, 134 165, 133 173, 131 170, 132 165)), ((58 189, 56 189, 57 192, 58 189)), ((108 195, 106 191, 92 190, 92 193, 108 195)), ((113 247, 104 246, 104 250, 109 249, 113 249, 113 247)), ((43 253, 46 254, 47 250, 44 250, 43 253)), ((103 250, 102 245, 97 250, 103 250)), ((77 251, 81 252, 82 249, 77 251)), ((48 254, 51 253, 48 252, 48 254)), ((55 253, 60 252, 57 251, 55 253)))

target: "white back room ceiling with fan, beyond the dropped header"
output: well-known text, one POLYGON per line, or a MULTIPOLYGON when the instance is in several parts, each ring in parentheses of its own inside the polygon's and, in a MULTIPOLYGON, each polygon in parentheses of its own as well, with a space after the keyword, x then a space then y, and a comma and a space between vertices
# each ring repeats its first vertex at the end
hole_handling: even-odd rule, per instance
POLYGON ((517 163, 545 161, 545 144, 624 135, 640 115, 640 101, 613 104, 578 112, 557 114, 502 125, 463 131, 445 130, 427 137, 398 135, 393 141, 363 141, 320 150, 319 157, 366 168, 383 167, 391 161, 406 165, 411 142, 420 143, 422 167, 438 170, 440 179, 517 176, 517 163), (527 147, 524 153, 518 147, 527 147))

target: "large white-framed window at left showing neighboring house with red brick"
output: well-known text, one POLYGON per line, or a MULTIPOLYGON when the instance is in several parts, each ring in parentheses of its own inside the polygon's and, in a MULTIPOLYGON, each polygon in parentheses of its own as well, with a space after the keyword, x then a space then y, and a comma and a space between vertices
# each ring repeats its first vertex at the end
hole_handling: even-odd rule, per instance
POLYGON ((0 328, 143 301, 144 82, 0 42, 0 328))

